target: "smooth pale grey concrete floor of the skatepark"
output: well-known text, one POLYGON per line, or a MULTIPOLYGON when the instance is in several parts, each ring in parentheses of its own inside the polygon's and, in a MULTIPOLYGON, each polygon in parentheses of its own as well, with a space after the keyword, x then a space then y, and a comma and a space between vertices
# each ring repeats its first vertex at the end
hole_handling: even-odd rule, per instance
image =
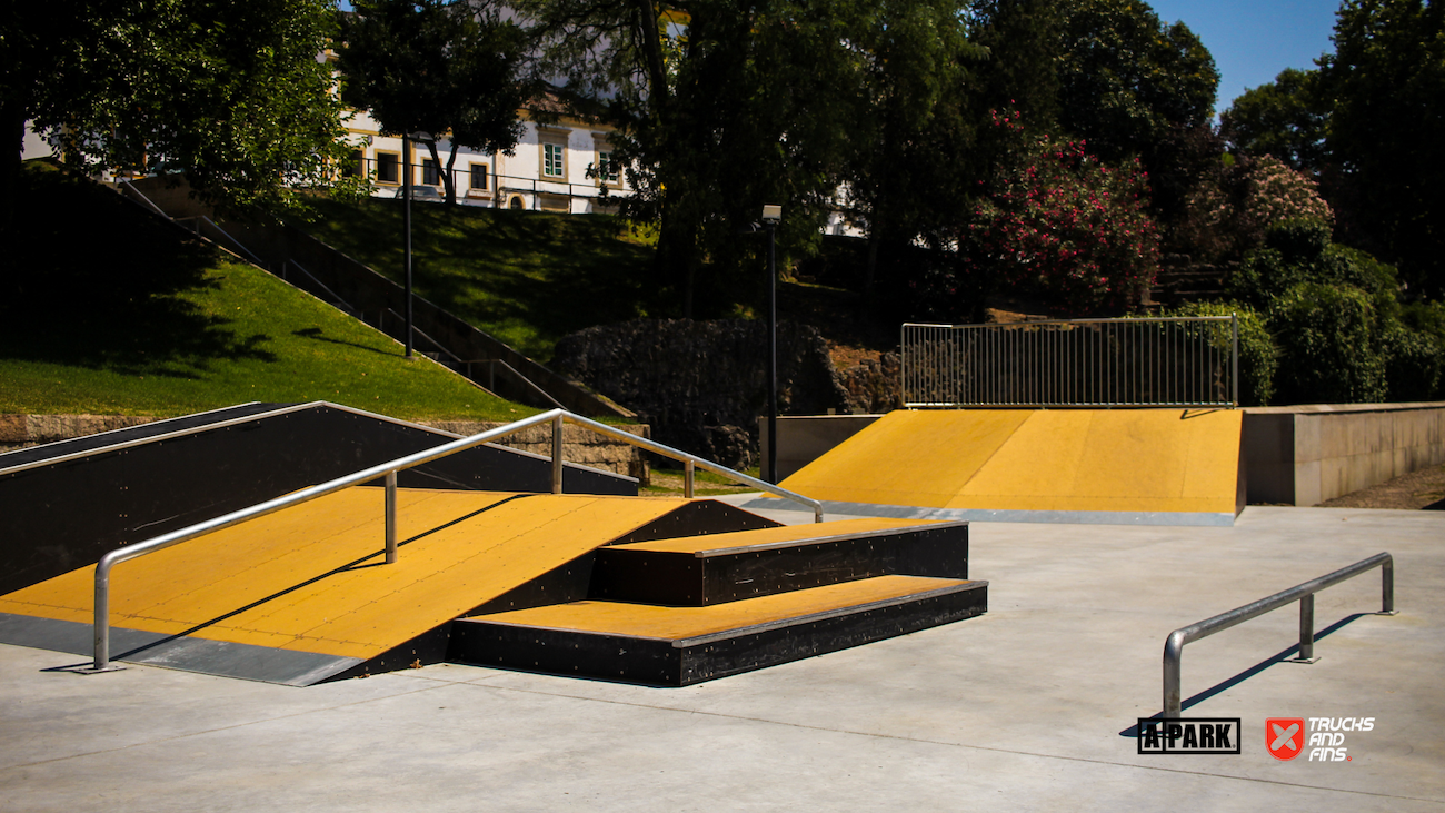
MULTIPOLYGON (((779 514, 790 521, 811 516, 779 514)), ((464 665, 290 689, 0 645, 0 810, 1445 810, 1445 514, 1250 508, 1233 528, 972 525, 990 612, 686 689, 464 665), (1183 654, 1240 755, 1139 755, 1175 628, 1379 551, 1183 654), (1374 718, 1290 762, 1266 718, 1374 718)))

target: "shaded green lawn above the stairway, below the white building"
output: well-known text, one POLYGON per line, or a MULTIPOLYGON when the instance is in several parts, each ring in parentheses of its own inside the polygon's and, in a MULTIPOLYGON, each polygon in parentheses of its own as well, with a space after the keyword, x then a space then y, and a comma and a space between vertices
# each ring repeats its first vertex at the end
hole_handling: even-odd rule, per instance
MULTIPOLYGON (((303 229, 400 282, 402 201, 315 201, 303 229)), ((412 204, 416 292, 548 363, 568 333, 659 315, 653 249, 611 216, 412 204)))

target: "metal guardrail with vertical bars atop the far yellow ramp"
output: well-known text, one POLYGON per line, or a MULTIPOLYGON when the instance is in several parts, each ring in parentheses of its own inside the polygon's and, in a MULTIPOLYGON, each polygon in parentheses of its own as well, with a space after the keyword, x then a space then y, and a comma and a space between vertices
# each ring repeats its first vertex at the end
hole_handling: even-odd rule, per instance
POLYGON ((1238 320, 905 324, 905 406, 1238 406, 1238 320))

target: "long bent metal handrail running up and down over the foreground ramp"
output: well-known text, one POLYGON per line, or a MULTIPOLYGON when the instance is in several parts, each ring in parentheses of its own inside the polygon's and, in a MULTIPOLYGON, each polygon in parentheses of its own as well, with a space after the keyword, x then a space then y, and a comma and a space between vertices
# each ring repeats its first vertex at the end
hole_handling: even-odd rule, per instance
POLYGON ((734 472, 727 466, 711 463, 695 454, 688 454, 686 451, 672 448, 669 446, 663 446, 660 443, 655 443, 647 438, 637 437, 631 433, 626 433, 623 430, 608 427, 607 424, 592 421, 591 418, 574 415, 572 412, 568 412, 565 409, 552 409, 549 412, 542 412, 540 415, 533 415, 530 418, 513 421, 510 424, 497 427, 494 430, 487 430, 484 433, 478 433, 471 437, 464 437, 460 440, 454 440, 451 443, 445 443, 435 448, 418 451, 415 454, 407 454, 406 457, 399 457, 389 463, 380 463, 377 466, 371 466, 370 469, 363 469, 361 472, 355 472, 353 474, 337 477, 334 480, 311 486, 308 489, 301 489, 298 492, 292 492, 289 495, 279 496, 276 499, 266 501, 263 503, 253 505, 250 508, 243 508, 241 511, 233 511, 231 514, 227 514, 224 516, 207 519, 205 522, 197 522, 195 525, 191 525, 188 528, 171 531, 169 534, 162 534, 159 537, 153 537, 143 542, 136 542, 107 553, 105 556, 101 557, 100 563, 95 566, 95 622, 94 622, 95 661, 85 671, 111 671, 120 668, 111 665, 110 663, 110 573, 117 564, 123 561, 130 561, 133 558, 139 558, 142 556, 163 548, 169 548, 172 545, 178 545, 189 540, 195 540, 198 537, 204 537, 207 534, 212 534, 215 531, 221 531, 224 528, 230 528, 233 525, 240 525, 241 522, 247 522, 250 519, 266 516, 267 514, 275 514, 285 508, 292 508, 295 505, 311 502, 314 499, 348 489, 351 486, 358 486, 361 483, 367 483, 376 479, 383 479, 383 482, 386 483, 386 563, 392 564, 396 561, 397 472, 403 472, 406 469, 412 469, 423 463, 431 463, 432 460, 441 460, 442 457, 448 457, 451 454, 457 454, 458 451, 474 448, 487 441, 497 440, 500 437, 506 437, 509 434, 519 433, 530 427, 551 424, 552 425, 552 493, 562 493, 562 469, 565 463, 562 457, 564 421, 571 421, 577 425, 590 428, 594 433, 616 440, 621 440, 624 443, 630 443, 633 446, 646 448, 647 451, 652 451, 655 454, 662 454, 663 457, 670 457, 673 460, 682 461, 685 472, 683 493, 689 499, 692 498, 694 492, 692 489, 694 470, 701 467, 708 472, 722 474, 724 477, 730 477, 738 483, 753 486, 759 490, 764 490, 777 495, 780 498, 808 505, 814 509, 814 521, 822 522, 822 503, 818 502, 816 499, 806 498, 803 495, 790 492, 788 489, 780 489, 772 483, 759 480, 756 477, 750 477, 741 472, 734 472))

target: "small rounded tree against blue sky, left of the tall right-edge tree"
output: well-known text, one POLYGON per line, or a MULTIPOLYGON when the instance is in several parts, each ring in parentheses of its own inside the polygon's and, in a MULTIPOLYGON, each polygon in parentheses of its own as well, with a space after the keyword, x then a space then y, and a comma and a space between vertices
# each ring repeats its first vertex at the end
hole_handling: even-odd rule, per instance
POLYGON ((1220 127, 1233 150, 1272 155, 1290 169, 1316 176, 1325 162, 1328 124, 1319 72, 1295 68, 1244 91, 1220 114, 1220 127))

